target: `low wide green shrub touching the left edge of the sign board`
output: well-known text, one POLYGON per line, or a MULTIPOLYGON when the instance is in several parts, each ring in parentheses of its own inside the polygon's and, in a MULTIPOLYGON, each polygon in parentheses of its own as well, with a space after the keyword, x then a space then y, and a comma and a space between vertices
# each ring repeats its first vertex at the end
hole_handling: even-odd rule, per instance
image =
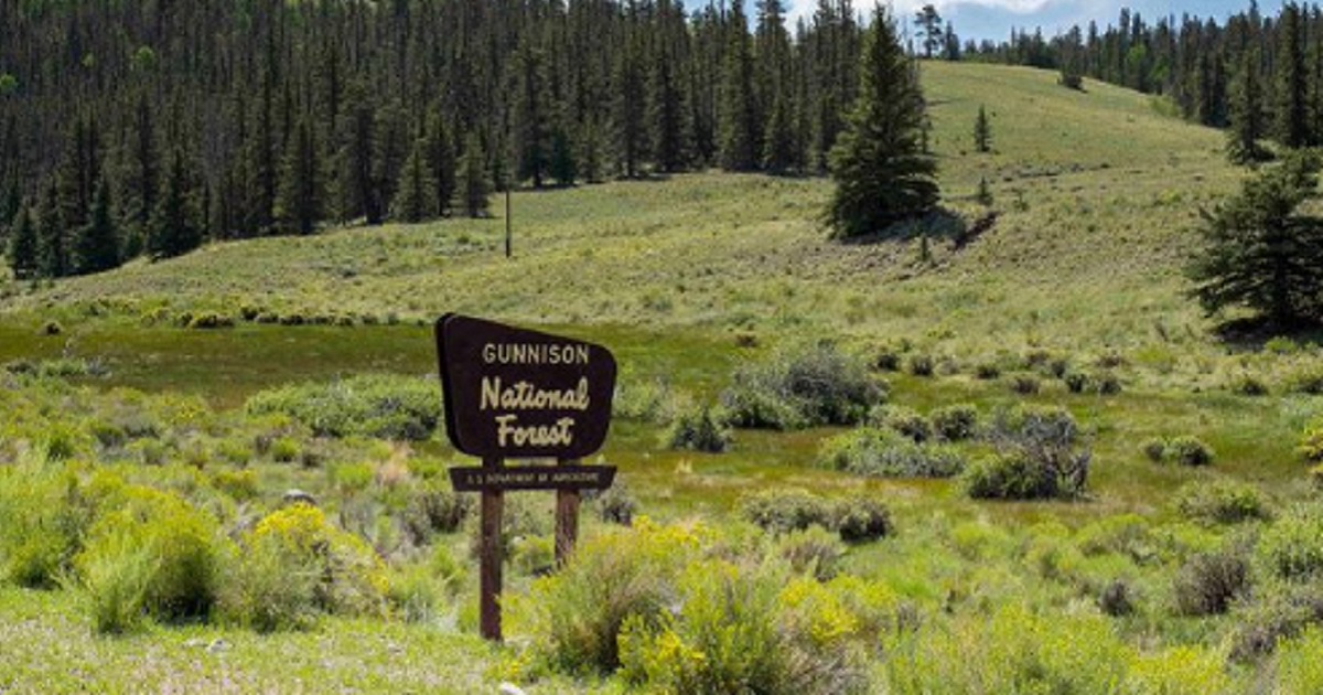
POLYGON ((433 379, 353 376, 263 391, 249 398, 246 410, 287 414, 319 437, 421 441, 441 422, 441 387, 433 379))

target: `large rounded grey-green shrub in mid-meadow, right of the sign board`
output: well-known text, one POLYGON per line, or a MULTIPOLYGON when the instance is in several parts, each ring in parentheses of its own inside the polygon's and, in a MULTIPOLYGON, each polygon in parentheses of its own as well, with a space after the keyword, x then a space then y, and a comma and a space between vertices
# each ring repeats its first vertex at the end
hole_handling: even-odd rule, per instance
POLYGON ((884 396, 863 361, 816 343, 736 369, 721 402, 734 426, 799 429, 853 425, 884 396))

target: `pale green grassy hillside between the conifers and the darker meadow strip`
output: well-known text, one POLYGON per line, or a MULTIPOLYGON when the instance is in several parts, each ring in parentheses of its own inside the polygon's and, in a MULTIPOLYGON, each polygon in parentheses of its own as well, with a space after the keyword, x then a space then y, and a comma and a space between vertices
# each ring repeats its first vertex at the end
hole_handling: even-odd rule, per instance
MULTIPOLYGON (((1221 134, 1159 114, 1150 97, 1023 68, 931 62, 933 146, 966 220, 987 177, 996 225, 963 252, 841 245, 816 224, 830 183, 697 173, 513 197, 504 220, 332 230, 213 245, 61 282, 4 307, 106 298, 153 306, 427 318, 468 311, 550 323, 710 324, 934 335, 983 352, 1052 335, 1064 348, 1132 347, 1155 323, 1195 324, 1181 297, 1199 205, 1229 191, 1221 134), (994 152, 972 154, 980 105, 994 152)), ((496 207, 500 209, 500 207, 496 207)), ((11 286, 11 293, 16 289, 11 286)), ((1172 331, 1187 332, 1187 331, 1172 331)))

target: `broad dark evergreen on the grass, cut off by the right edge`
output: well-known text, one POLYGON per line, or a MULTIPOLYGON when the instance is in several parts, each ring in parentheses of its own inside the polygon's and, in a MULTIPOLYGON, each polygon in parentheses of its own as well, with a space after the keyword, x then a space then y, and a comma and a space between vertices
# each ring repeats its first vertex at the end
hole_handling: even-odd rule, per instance
POLYGON ((1315 193, 1315 169, 1293 156, 1205 212, 1204 248, 1189 267, 1205 311, 1245 306, 1279 328, 1323 318, 1323 218, 1297 212, 1315 193))

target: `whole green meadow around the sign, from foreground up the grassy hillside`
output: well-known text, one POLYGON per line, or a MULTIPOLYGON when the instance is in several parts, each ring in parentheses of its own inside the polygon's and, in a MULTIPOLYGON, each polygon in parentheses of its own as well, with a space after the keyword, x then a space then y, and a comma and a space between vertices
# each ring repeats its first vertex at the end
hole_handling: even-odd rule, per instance
POLYGON ((923 65, 960 221, 905 240, 828 241, 826 180, 688 173, 516 192, 512 258, 497 216, 0 281, 0 691, 720 692, 763 674, 778 692, 1318 692, 1323 475, 1301 451, 1323 429, 1318 336, 1228 342, 1236 316, 1185 295, 1200 210, 1244 176, 1221 132, 1056 79, 923 65), (463 458, 427 405, 447 311, 593 340, 622 369, 601 459, 627 492, 589 503, 581 557, 550 576, 550 495, 515 495, 499 647, 476 637, 472 503, 445 477, 463 458), (865 416, 672 446, 677 422, 730 409, 740 373, 824 343, 884 393, 865 416), (980 433, 1064 412, 1085 488, 974 499, 967 475, 830 462, 867 424, 975 469, 994 434, 896 443, 966 404, 980 433), (292 488, 324 515, 291 514, 292 488), (767 498, 787 491, 810 502, 767 498), (804 522, 759 528, 759 495, 804 522), (845 543, 818 507, 860 499, 890 528, 845 543), (204 609, 126 569, 105 522, 123 510, 130 541, 204 559, 204 609), (279 565, 300 537, 335 561, 290 596, 253 557, 279 565), (614 573, 640 606, 693 609, 558 631, 607 610, 591 585, 614 573))

